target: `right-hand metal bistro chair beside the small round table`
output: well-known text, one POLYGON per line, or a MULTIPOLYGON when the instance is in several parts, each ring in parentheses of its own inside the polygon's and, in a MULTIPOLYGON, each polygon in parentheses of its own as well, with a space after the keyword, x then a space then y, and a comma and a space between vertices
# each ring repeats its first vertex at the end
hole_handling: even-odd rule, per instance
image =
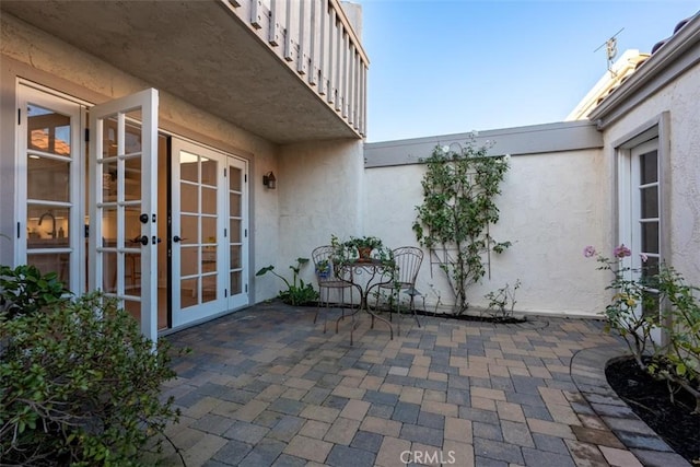
MULTIPOLYGON (((420 265, 423 262, 423 250, 415 247, 415 246, 401 246, 393 250, 394 253, 394 261, 396 264, 396 269, 394 276, 388 280, 384 281, 380 284, 380 290, 388 290, 394 297, 394 305, 396 306, 396 312, 398 313, 398 335, 401 335, 401 308, 399 306, 399 293, 405 291, 411 300, 410 300, 410 310, 413 314, 413 318, 416 319, 416 324, 420 327, 420 322, 418 320, 418 315, 416 314, 416 303, 415 297, 419 294, 416 290, 416 278, 418 278, 418 271, 420 270, 420 265)), ((377 293, 377 306, 380 302, 381 293, 377 293)), ((392 320, 392 310, 389 307, 389 320, 392 320)))

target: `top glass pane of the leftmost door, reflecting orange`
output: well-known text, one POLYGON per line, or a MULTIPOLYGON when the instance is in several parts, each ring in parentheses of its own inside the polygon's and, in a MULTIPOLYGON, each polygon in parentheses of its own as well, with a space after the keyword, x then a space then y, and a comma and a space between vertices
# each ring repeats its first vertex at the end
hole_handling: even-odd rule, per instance
POLYGON ((27 106, 27 149, 70 157, 70 116, 27 106))

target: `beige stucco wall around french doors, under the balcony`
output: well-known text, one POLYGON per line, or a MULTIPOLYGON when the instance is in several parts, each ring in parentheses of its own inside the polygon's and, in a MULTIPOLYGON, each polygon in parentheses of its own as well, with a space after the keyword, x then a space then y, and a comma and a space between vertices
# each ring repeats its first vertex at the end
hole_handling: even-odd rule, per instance
MULTIPOLYGON (((0 115, 3 122, 12 121, 16 115, 13 96, 18 77, 90 104, 150 86, 11 15, 2 15, 0 22, 0 115)), ((271 276, 255 278, 257 269, 272 264, 285 273, 291 261, 300 256, 308 257, 311 248, 328 242, 331 232, 349 234, 357 231, 361 141, 280 148, 164 92, 160 92, 159 118, 163 130, 248 160, 252 302, 271 299, 280 290, 279 281, 271 276), (277 190, 262 186, 262 174, 269 171, 278 178, 277 190), (348 212, 352 214, 347 215, 348 212), (310 230, 310 226, 314 229, 310 230)), ((12 236, 15 137, 12 125, 3 124, 0 128, 3 180, 0 232, 12 236)), ((0 262, 12 262, 11 247, 3 245, 0 262)))

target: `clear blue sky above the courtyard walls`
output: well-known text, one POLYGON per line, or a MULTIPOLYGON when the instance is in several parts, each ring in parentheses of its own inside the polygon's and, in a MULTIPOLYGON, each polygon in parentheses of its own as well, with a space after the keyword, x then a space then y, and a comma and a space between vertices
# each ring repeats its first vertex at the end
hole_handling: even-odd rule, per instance
POLYGON ((368 141, 562 121, 606 72, 651 51, 690 0, 351 0, 370 57, 368 141))

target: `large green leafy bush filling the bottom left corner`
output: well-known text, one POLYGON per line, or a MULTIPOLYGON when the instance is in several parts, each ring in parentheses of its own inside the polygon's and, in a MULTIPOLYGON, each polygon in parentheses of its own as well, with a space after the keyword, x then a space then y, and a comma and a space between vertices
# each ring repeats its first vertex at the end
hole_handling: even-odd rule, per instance
POLYGON ((22 268, 20 283, 0 289, 2 303, 13 304, 0 311, 2 464, 139 465, 149 439, 179 417, 172 398, 159 399, 161 384, 175 376, 167 341, 153 352, 115 301, 98 293, 49 299, 57 291, 50 277, 36 280, 22 268), (31 312, 19 312, 25 295, 46 303, 30 301, 31 312))

